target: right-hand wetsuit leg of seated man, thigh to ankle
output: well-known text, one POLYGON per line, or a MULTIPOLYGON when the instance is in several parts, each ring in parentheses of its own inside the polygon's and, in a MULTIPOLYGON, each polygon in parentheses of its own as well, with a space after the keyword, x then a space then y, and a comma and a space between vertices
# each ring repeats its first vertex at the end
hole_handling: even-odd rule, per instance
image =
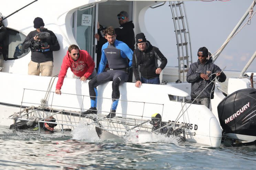
POLYGON ((112 107, 111 110, 116 110, 120 98, 119 85, 128 80, 128 75, 125 71, 115 70, 112 83, 112 107))

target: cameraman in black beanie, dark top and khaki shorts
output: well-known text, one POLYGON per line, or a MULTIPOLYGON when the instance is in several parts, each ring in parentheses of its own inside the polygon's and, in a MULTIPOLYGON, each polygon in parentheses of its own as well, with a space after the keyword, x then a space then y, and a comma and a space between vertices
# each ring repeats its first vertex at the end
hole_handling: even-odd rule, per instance
MULTIPOLYGON (((31 48, 31 61, 29 62, 28 74, 41 76, 51 76, 53 70, 53 53, 52 51, 60 50, 60 44, 58 43, 55 34, 44 28, 43 19, 36 17, 34 19, 34 28, 36 30, 31 31, 24 40, 22 47, 24 49, 31 48, 31 43, 36 41, 42 41, 42 44, 48 44, 47 47, 40 47, 39 49, 31 48), (38 38, 38 34, 41 32, 50 33, 50 36, 38 38)), ((46 35, 46 34, 45 34, 46 35)))

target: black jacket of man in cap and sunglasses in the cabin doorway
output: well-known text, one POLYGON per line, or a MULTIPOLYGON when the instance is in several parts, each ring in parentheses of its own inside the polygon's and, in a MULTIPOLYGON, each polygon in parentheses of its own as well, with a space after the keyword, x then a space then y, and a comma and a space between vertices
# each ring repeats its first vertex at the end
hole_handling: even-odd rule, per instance
POLYGON ((135 45, 135 36, 134 36, 134 24, 132 21, 126 22, 123 25, 120 25, 119 28, 115 28, 116 39, 124 42, 128 47, 134 51, 135 45))

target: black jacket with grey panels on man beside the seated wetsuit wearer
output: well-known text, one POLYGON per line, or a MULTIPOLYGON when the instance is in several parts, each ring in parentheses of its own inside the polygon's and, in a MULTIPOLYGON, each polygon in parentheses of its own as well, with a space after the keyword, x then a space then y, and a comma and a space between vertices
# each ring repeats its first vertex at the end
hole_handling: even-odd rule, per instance
POLYGON ((141 76, 147 79, 159 77, 159 74, 156 74, 156 69, 161 68, 163 70, 167 64, 167 59, 159 49, 152 46, 149 41, 146 43, 147 49, 145 51, 135 49, 132 55, 132 68, 136 81, 140 80, 139 71, 141 76), (160 66, 158 66, 157 60, 161 61, 160 66), (139 66, 140 69, 138 70, 139 66))

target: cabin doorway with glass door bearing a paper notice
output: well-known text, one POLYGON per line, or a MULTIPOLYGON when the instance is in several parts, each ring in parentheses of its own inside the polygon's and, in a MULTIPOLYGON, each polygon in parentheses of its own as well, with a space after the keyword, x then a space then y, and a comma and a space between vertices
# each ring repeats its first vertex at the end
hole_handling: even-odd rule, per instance
POLYGON ((73 13, 72 31, 74 38, 80 49, 88 51, 92 56, 95 67, 98 68, 100 54, 97 56, 97 39, 94 35, 97 33, 97 22, 104 27, 119 27, 117 14, 126 11, 129 14, 129 20, 133 19, 133 2, 131 1, 107 1, 97 3, 78 9, 73 13))

